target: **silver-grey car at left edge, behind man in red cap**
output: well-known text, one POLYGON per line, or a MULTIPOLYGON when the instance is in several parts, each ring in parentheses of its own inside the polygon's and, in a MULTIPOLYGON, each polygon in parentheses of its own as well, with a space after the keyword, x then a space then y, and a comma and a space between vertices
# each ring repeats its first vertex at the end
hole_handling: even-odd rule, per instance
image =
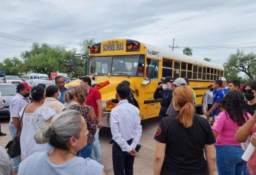
POLYGON ((13 96, 16 95, 16 85, 11 83, 0 83, 0 92, 1 99, 4 101, 4 108, 0 110, 0 116, 10 117, 10 101, 13 99, 13 96))

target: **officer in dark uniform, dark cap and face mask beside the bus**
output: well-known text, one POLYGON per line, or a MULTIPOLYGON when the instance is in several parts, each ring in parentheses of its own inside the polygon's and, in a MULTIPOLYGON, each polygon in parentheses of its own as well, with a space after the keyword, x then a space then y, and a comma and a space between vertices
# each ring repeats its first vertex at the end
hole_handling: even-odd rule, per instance
POLYGON ((166 115, 166 110, 168 109, 169 105, 171 104, 172 99, 172 82, 174 82, 171 76, 166 76, 163 79, 162 83, 157 87, 154 91, 154 99, 160 99, 160 120, 163 119, 166 115))

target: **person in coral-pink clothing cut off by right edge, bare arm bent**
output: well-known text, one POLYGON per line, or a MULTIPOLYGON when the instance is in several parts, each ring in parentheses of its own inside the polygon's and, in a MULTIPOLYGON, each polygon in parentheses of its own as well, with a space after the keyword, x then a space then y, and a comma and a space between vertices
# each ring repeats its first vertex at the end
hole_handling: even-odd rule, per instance
MULTIPOLYGON (((249 119, 246 124, 239 128, 235 139, 237 142, 246 142, 248 137, 250 137, 252 145, 256 147, 256 112, 253 114, 252 119, 249 119)), ((256 151, 247 162, 247 168, 250 175, 256 175, 256 151)))

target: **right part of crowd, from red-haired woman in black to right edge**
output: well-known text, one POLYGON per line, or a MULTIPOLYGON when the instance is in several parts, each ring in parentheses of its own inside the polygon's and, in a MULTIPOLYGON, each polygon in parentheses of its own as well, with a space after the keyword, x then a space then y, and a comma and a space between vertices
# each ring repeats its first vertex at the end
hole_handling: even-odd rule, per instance
POLYGON ((256 174, 256 151, 249 162, 241 157, 256 146, 256 82, 240 88, 224 77, 203 96, 204 119, 195 114, 196 96, 188 79, 165 77, 155 90, 160 99, 160 126, 154 174, 256 174), (247 142, 246 142, 247 140, 247 142))

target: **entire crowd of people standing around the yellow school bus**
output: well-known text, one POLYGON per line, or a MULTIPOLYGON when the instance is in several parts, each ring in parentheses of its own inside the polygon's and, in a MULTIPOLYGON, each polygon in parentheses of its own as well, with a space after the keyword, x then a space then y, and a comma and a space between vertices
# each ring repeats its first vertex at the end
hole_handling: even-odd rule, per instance
MULTIPOLYGON (((12 138, 20 136, 21 155, 10 159, 0 148, 5 174, 105 174, 101 94, 90 77, 81 80, 69 90, 62 76, 48 87, 17 86, 9 130, 12 138)), ((155 90, 161 105, 155 175, 213 175, 216 166, 219 175, 256 174, 256 151, 249 162, 241 158, 249 142, 256 146, 256 82, 241 90, 239 81, 220 77, 208 88, 202 102, 207 119, 195 113, 197 96, 188 79, 168 76, 155 90)), ((118 103, 110 118, 114 174, 134 174, 142 126, 130 83, 120 82, 110 101, 118 103)))

